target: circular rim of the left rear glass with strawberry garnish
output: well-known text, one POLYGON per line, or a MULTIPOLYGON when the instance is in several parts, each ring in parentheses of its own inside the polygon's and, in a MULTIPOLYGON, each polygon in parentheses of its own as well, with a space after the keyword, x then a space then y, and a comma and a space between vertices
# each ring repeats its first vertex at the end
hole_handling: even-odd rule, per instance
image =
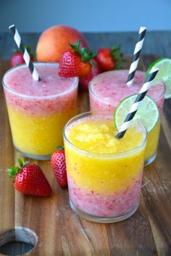
MULTIPOLYGON (((33 62, 34 65, 38 66, 38 65, 52 65, 52 66, 59 66, 59 63, 57 62, 33 62)), ((51 95, 46 95, 46 96, 36 96, 36 95, 26 95, 26 94, 20 94, 15 92, 13 89, 8 88, 7 84, 5 83, 5 78, 7 75, 9 75, 9 73, 14 72, 14 70, 20 69, 21 67, 27 67, 28 66, 26 64, 22 64, 22 65, 17 65, 17 67, 12 67, 9 70, 7 70, 6 73, 4 73, 3 77, 2 77, 2 86, 7 89, 7 91, 9 91, 11 94, 20 96, 22 98, 27 98, 27 99, 52 99, 52 98, 56 98, 57 96, 64 96, 65 94, 70 93, 70 91, 74 90, 77 86, 78 86, 78 77, 73 77, 73 83, 72 86, 67 90, 67 91, 62 91, 62 93, 59 94, 51 94, 51 95)), ((31 75, 31 74, 30 74, 31 75)), ((67 78, 64 78, 67 79, 67 78)))

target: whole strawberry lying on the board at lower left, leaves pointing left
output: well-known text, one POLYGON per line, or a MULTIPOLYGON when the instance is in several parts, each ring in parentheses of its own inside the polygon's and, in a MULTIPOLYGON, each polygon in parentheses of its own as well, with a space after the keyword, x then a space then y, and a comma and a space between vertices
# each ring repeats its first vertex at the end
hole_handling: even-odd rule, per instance
POLYGON ((41 168, 33 163, 18 160, 20 167, 12 166, 7 169, 9 176, 14 178, 14 188, 23 194, 37 197, 49 197, 51 186, 46 180, 41 168))

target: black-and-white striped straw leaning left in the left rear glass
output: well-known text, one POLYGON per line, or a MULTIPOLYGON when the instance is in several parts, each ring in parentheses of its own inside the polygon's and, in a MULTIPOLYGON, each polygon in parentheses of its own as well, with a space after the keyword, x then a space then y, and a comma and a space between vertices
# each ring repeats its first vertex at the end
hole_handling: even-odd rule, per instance
POLYGON ((17 44, 20 51, 22 51, 23 59, 25 59, 25 63, 28 66, 31 75, 33 76, 33 79, 36 81, 41 80, 39 78, 38 72, 36 70, 36 67, 33 65, 33 62, 30 59, 30 55, 28 54, 28 50, 25 48, 25 45, 22 42, 22 38, 20 37, 20 34, 18 33, 18 30, 15 25, 9 26, 9 29, 12 30, 12 33, 14 34, 14 41, 17 44))

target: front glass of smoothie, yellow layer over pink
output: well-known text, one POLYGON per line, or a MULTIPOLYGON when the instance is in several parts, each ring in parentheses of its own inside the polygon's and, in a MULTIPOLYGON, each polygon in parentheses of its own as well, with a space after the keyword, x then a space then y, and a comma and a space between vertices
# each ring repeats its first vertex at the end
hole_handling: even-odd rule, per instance
POLYGON ((81 114, 64 128, 70 205, 88 220, 120 221, 138 208, 146 129, 138 123, 116 134, 109 113, 81 114))

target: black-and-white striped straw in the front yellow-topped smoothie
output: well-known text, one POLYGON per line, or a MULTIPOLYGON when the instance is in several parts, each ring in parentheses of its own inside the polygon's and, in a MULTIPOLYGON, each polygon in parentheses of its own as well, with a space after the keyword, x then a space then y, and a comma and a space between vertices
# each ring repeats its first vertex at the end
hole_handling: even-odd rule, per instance
POLYGON ((153 67, 151 69, 151 72, 149 73, 148 77, 146 78, 145 83, 143 83, 143 86, 141 87, 141 90, 139 91, 138 96, 135 99, 135 102, 133 103, 133 106, 130 108, 130 112, 128 113, 127 117, 125 118, 125 121, 122 123, 120 130, 117 133, 117 139, 122 139, 127 129, 130 127, 131 121, 133 120, 133 117, 135 116, 139 105, 141 104, 143 98, 146 96, 147 91, 151 87, 151 84, 153 83, 154 78, 156 77, 159 69, 156 67, 153 67))

